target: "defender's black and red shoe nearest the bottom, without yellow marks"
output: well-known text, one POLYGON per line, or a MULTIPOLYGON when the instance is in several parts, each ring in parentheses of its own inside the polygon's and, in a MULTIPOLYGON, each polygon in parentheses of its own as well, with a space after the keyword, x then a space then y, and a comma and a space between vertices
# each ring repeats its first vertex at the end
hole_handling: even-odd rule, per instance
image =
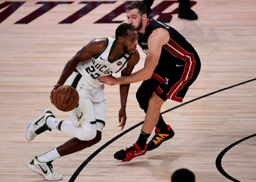
POLYGON ((134 143, 130 148, 125 148, 115 152, 114 158, 121 162, 127 162, 134 157, 142 156, 146 154, 147 144, 144 149, 139 148, 137 143, 134 143))

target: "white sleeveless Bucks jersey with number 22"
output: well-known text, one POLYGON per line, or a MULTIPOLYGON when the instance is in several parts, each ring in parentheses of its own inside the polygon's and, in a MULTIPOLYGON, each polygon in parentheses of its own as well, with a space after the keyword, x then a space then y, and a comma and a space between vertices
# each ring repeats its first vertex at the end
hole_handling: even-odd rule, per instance
POLYGON ((80 62, 76 69, 77 71, 87 79, 87 82, 94 87, 103 85, 98 81, 100 76, 107 76, 112 73, 117 73, 126 68, 126 63, 131 55, 124 53, 119 58, 110 61, 109 56, 115 45, 115 39, 103 38, 107 40, 105 49, 93 58, 80 62))

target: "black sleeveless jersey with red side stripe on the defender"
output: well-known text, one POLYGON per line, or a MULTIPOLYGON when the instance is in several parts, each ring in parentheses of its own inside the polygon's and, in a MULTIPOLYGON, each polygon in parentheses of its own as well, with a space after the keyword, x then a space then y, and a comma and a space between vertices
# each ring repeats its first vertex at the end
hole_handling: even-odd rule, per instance
POLYGON ((171 69, 174 69, 172 72, 175 72, 177 66, 185 65, 187 60, 198 58, 198 61, 200 62, 195 49, 180 33, 174 28, 153 18, 148 18, 147 20, 145 35, 138 32, 138 44, 145 54, 149 52, 147 40, 152 31, 157 28, 165 28, 170 34, 170 40, 167 44, 162 46, 161 55, 154 73, 161 77, 165 77, 166 72, 170 72, 171 69))

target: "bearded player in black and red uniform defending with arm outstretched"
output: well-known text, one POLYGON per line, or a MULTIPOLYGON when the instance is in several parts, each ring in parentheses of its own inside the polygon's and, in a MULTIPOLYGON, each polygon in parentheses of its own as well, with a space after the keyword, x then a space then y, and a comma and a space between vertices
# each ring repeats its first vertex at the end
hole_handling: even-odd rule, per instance
POLYGON ((126 15, 128 23, 138 32, 139 46, 147 55, 144 68, 129 76, 99 78, 108 85, 143 81, 136 97, 146 113, 145 120, 136 143, 114 154, 114 158, 122 162, 143 155, 174 136, 170 125, 163 121, 161 106, 167 99, 182 102, 201 67, 199 56, 192 45, 174 28, 147 18, 143 2, 134 1, 128 5, 126 15), (155 135, 146 144, 154 127, 155 135))

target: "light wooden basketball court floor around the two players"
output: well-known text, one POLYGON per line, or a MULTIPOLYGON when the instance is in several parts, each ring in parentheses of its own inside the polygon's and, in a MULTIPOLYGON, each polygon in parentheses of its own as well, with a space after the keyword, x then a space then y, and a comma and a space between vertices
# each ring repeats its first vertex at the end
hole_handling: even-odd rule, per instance
MULTIPOLYGON (((68 113, 57 110, 49 100, 64 65, 91 39, 112 36, 126 22, 126 14, 118 9, 126 1, 106 0, 73 23, 60 23, 96 1, 58 1, 62 3, 44 13, 38 9, 47 9, 49 1, 0 1, 1 182, 45 181, 27 164, 71 138, 54 130, 28 142, 25 131, 44 108, 58 119, 70 120, 68 113), (101 23, 95 23, 98 20, 101 23)), ((152 8, 163 2, 155 0, 152 8)), ((179 168, 191 170, 198 182, 256 181, 256 1, 194 2, 198 20, 179 19, 176 13, 167 22, 191 42, 202 62, 183 105, 168 100, 161 109, 175 131, 174 138, 130 162, 114 160, 116 151, 137 140, 145 114, 135 97, 140 83, 131 84, 122 133, 117 127, 119 86, 105 86, 102 140, 53 162, 53 171, 63 175, 62 181, 168 182, 179 168)), ((154 11, 168 14, 177 7, 175 1, 154 11)), ((141 60, 134 71, 143 67, 145 59, 138 50, 141 60)))

